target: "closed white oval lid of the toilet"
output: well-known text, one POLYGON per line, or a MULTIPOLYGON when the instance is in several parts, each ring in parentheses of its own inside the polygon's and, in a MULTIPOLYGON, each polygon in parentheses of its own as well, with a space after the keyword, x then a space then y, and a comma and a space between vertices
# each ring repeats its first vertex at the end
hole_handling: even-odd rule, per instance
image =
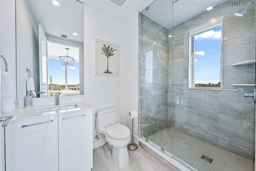
POLYGON ((127 139, 130 137, 130 130, 125 125, 115 124, 106 127, 106 134, 113 139, 127 139))

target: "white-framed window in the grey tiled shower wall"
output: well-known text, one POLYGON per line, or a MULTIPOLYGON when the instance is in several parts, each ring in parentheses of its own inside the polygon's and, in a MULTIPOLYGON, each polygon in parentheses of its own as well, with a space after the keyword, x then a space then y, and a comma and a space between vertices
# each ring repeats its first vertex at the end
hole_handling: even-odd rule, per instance
POLYGON ((222 87, 222 17, 190 30, 190 87, 222 87))

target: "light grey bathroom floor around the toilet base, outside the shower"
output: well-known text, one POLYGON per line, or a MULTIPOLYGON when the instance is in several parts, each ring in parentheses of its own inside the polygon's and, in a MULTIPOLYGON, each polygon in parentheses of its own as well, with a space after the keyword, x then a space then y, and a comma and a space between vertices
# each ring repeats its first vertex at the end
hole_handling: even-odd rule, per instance
POLYGON ((128 150, 130 162, 119 169, 104 149, 104 145, 93 149, 92 171, 171 171, 140 146, 135 151, 128 150))

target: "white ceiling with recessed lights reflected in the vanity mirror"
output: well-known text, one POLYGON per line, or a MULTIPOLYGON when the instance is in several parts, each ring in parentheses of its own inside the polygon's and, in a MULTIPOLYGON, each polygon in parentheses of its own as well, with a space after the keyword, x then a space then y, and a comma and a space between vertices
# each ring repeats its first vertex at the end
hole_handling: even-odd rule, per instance
POLYGON ((77 0, 58 0, 60 7, 51 0, 26 0, 36 25, 41 24, 46 35, 83 43, 84 7, 77 0), (58 28, 59 30, 55 30, 58 28), (73 32, 78 33, 77 36, 73 32), (62 38, 61 34, 68 36, 62 38))

